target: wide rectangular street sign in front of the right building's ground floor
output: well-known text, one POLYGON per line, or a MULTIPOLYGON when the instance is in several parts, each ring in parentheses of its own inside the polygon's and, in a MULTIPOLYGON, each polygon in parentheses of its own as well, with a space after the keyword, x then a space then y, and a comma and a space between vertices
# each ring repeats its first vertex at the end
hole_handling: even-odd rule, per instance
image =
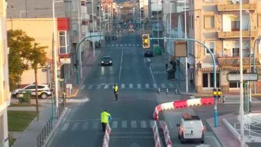
MULTIPOLYGON (((257 81, 258 76, 257 73, 243 73, 243 81, 257 81)), ((240 81, 240 73, 228 73, 227 81, 229 82, 239 82, 240 81)))

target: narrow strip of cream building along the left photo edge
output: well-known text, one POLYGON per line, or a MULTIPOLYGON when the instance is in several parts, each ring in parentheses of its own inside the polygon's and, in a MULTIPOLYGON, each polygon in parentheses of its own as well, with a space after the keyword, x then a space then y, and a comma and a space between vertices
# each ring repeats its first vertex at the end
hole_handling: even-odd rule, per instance
POLYGON ((6 1, 0 1, 0 146, 8 147, 7 107, 10 105, 8 51, 6 34, 6 1))

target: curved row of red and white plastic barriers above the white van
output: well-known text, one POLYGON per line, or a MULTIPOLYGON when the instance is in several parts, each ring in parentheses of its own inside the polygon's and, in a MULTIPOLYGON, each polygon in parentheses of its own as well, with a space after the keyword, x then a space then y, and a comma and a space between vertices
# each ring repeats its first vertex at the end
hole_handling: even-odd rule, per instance
POLYGON ((153 113, 153 118, 154 120, 158 120, 159 114, 163 110, 190 107, 190 106, 208 105, 208 104, 214 104, 214 102, 215 102, 214 97, 205 97, 205 98, 198 98, 198 99, 187 99, 187 100, 162 103, 156 106, 153 113))

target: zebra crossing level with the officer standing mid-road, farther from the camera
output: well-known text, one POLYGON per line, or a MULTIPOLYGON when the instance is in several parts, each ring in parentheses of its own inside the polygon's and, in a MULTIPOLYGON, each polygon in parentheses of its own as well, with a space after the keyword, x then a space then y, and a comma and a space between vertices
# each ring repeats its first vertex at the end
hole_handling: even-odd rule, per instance
MULTIPOLYGON (((149 83, 122 83, 118 84, 118 87, 123 89, 155 89, 157 87, 160 88, 175 88, 173 83, 161 83, 161 84, 149 84, 149 83)), ((101 89, 112 89, 114 88, 114 84, 91 84, 84 86, 85 89, 88 90, 101 90, 101 89)))

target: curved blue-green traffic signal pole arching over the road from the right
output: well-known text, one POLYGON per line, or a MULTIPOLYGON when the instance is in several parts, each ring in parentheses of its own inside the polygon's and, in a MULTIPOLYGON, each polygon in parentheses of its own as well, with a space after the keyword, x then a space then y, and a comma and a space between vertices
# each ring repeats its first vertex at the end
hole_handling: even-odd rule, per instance
MULTIPOLYGON (((211 52, 211 50, 202 42, 196 40, 196 39, 191 39, 191 38, 150 38, 150 39, 168 39, 168 40, 185 40, 185 41, 194 41, 194 42, 198 42, 199 44, 203 45, 204 48, 206 48, 210 55, 211 55, 211 59, 213 61, 213 71, 214 71, 214 88, 217 88, 217 75, 216 75, 216 61, 214 58, 213 53, 211 52)), ((217 96, 215 96, 215 105, 214 105, 214 127, 218 126, 218 121, 217 121, 217 96)))

